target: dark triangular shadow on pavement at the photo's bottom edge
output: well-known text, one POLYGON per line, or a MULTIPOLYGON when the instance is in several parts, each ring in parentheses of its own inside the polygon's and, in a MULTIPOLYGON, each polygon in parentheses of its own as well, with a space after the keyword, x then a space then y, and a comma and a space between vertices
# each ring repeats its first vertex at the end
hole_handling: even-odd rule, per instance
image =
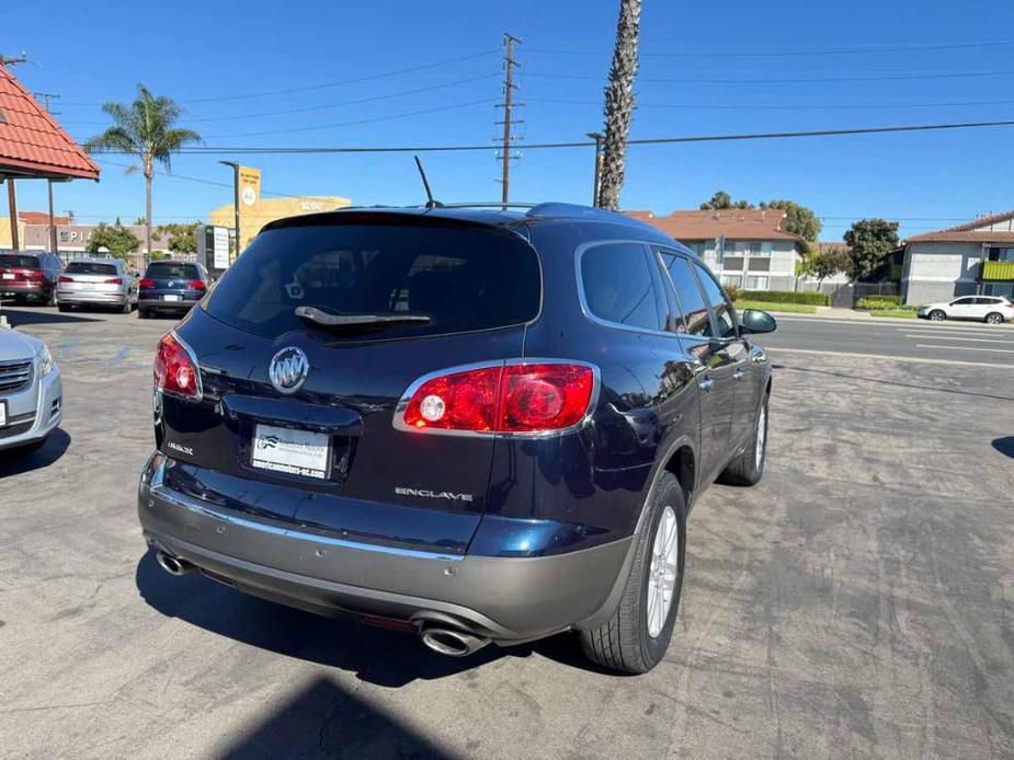
MULTIPOLYGON (((479 741, 469 741, 469 747, 479 741)), ((383 707, 330 678, 318 676, 255 722, 216 757, 447 758, 440 748, 383 707)))

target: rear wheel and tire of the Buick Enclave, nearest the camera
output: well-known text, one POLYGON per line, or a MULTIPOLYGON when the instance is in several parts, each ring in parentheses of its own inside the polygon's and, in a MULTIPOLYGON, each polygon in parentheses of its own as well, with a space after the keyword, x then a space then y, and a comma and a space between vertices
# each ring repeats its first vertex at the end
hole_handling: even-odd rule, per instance
POLYGON ((645 529, 635 538, 634 562, 616 611, 602 625, 580 633, 589 659, 628 673, 648 672, 662 661, 683 589, 686 505, 675 475, 662 475, 646 509, 645 529), (664 545, 659 552, 660 536, 675 541, 674 557, 664 545), (659 604, 668 607, 660 610, 659 604))

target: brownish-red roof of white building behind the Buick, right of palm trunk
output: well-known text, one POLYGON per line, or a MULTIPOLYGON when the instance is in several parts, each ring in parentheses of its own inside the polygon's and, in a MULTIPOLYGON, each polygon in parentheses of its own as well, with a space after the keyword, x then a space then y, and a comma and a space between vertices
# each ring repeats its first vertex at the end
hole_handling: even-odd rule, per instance
POLYGON ((651 211, 624 211, 628 217, 660 229, 681 242, 694 240, 794 240, 799 235, 785 232, 782 224, 785 211, 777 208, 739 209, 721 211, 673 211, 657 217, 651 211))

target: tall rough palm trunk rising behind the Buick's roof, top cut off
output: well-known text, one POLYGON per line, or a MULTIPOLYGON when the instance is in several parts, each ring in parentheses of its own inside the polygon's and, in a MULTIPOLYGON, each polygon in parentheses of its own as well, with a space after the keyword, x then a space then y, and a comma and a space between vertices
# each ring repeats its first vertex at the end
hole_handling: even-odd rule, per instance
POLYGON ((605 90, 605 136, 602 151, 602 177, 599 206, 619 209, 627 136, 634 117, 634 77, 637 74, 637 38, 641 23, 640 0, 619 0, 616 47, 609 67, 609 87, 605 90))

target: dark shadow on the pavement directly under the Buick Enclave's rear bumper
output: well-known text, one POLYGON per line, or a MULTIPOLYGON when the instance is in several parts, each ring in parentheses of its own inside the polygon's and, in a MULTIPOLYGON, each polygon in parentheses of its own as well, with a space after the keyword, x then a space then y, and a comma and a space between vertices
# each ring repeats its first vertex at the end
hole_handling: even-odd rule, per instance
POLYGON ((171 576, 159 567, 153 551, 138 562, 135 583, 141 598, 164 615, 286 657, 355 672, 377 686, 397 688, 417 679, 446 678, 501 657, 528 657, 534 652, 565 665, 606 672, 582 656, 572 634, 511 647, 490 645, 470 657, 446 657, 426 649, 408 632, 276 604, 200 573, 171 576))

